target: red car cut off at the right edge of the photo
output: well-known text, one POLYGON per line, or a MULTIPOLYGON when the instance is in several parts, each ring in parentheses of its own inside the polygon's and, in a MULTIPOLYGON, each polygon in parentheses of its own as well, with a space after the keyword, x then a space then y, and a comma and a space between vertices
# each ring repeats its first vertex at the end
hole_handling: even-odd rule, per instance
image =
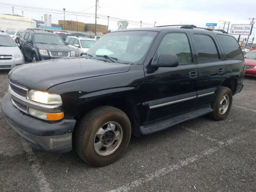
POLYGON ((245 75, 256 77, 256 50, 246 53, 244 58, 245 75))

